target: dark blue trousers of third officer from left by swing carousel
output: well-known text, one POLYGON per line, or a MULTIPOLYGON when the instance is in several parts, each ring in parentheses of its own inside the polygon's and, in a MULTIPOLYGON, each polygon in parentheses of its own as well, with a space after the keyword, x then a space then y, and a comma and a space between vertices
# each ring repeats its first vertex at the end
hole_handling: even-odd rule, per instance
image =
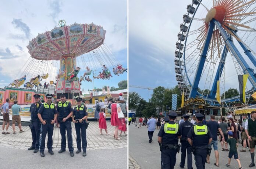
POLYGON ((61 149, 66 149, 66 130, 68 135, 68 151, 74 151, 72 140, 72 128, 71 121, 65 121, 60 123, 60 135, 61 135, 61 149))

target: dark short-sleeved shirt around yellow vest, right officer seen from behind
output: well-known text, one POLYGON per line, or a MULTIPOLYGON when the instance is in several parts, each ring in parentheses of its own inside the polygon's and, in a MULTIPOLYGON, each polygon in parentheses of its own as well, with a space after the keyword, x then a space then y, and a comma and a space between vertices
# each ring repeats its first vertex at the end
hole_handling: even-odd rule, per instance
MULTIPOLYGON (((200 122, 197 125, 203 126, 203 123, 200 122)), ((195 148, 206 149, 208 147, 209 139, 213 136, 211 135, 211 131, 208 126, 207 130, 208 133, 206 135, 195 135, 194 127, 191 127, 187 136, 193 140, 193 146, 195 146, 195 148)))

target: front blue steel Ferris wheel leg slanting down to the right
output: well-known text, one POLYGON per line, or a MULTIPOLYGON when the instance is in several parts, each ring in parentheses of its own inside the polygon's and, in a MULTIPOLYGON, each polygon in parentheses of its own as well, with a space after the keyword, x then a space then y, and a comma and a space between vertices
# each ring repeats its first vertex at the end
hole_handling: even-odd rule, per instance
POLYGON ((255 73, 253 72, 253 69, 250 68, 249 65, 246 63, 246 61, 243 59, 243 56, 238 51, 238 49, 235 47, 232 40, 230 40, 230 38, 228 37, 225 30, 221 27, 221 24, 215 19, 212 19, 211 21, 214 21, 215 26, 218 28, 218 30, 220 31, 220 34, 222 35, 222 37, 224 39, 225 44, 228 46, 231 53, 237 59, 238 63, 240 64, 240 66, 243 69, 244 74, 249 74, 248 79, 252 83, 252 86, 254 87, 254 89, 256 89, 256 76, 255 76, 255 73))

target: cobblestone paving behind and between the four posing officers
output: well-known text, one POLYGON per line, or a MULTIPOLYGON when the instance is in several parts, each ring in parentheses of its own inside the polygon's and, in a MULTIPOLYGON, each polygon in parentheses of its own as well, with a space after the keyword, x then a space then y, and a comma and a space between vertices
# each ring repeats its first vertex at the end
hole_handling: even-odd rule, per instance
MULTIPOLYGON (((75 125, 72 124, 72 137, 73 137, 73 145, 74 150, 77 150, 77 142, 76 142, 76 133, 75 133, 75 125)), ((15 126, 16 134, 13 134, 13 128, 9 126, 8 132, 11 134, 2 135, 0 133, 0 146, 11 147, 14 149, 23 149, 26 150, 31 146, 32 136, 31 130, 27 127, 22 127, 25 131, 23 133, 19 133, 18 126, 15 126)), ((110 135, 106 135, 103 130, 103 135, 99 135, 99 123, 96 121, 91 121, 88 129, 86 129, 86 139, 87 139, 87 150, 100 150, 100 149, 119 149, 127 147, 127 136, 123 133, 122 136, 119 136, 120 140, 115 140, 113 138, 114 127, 110 125, 110 121, 107 121, 107 129, 110 135)), ((2 131, 2 125, 0 125, 0 131, 2 131)), ((67 135, 66 135, 67 137, 67 135)), ((67 140, 67 138, 66 138, 67 140)), ((46 136, 47 143, 47 136, 46 136)), ((47 146, 47 145, 46 145, 47 146)), ((60 129, 54 127, 53 131, 53 150, 59 150, 61 146, 61 135, 60 129)), ((68 149, 68 146, 66 147, 68 149)), ((47 149, 46 149, 47 150, 47 149)))

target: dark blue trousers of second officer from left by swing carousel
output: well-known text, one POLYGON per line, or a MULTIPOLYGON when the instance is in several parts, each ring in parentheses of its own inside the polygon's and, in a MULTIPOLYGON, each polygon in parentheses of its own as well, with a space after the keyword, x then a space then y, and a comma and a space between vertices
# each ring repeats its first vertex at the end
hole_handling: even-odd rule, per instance
POLYGON ((40 152, 45 151, 45 138, 46 134, 48 137, 47 140, 47 149, 52 150, 53 149, 53 126, 54 124, 46 123, 45 125, 41 124, 41 141, 40 141, 40 152))

